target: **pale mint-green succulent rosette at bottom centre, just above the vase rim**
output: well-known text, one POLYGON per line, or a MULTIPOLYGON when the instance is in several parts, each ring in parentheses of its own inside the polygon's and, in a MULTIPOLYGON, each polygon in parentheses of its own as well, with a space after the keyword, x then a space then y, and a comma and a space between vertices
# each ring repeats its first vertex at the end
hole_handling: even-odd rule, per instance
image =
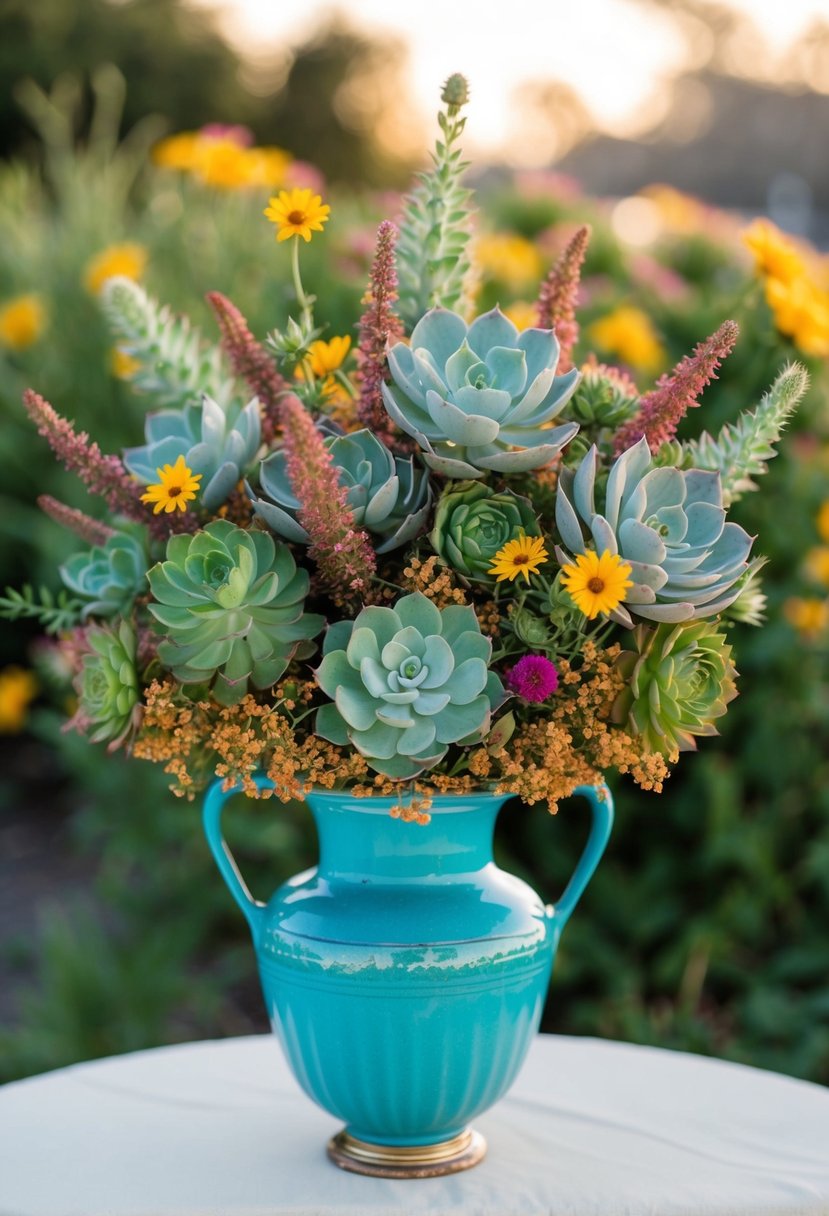
POLYGON ((503 697, 491 653, 468 606, 440 609, 418 591, 394 608, 363 608, 326 635, 315 675, 333 704, 317 711, 316 733, 353 744, 388 777, 416 777, 450 743, 489 731, 503 697))

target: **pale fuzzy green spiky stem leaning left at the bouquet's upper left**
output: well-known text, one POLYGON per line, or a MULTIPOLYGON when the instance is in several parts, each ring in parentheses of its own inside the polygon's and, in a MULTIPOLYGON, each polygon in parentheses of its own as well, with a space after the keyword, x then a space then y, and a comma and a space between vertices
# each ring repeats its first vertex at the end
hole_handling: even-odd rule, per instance
POLYGON ((175 316, 130 278, 111 278, 101 303, 118 347, 139 361, 130 382, 140 393, 175 409, 198 402, 204 393, 230 405, 235 382, 221 349, 205 345, 187 317, 175 316))

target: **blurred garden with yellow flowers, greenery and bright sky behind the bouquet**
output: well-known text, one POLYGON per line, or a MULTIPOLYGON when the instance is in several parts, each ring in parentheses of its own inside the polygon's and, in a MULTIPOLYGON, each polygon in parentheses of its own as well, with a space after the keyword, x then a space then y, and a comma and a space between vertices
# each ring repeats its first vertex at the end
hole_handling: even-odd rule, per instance
MULTIPOLYGON (((216 338, 226 293, 264 334, 291 306, 263 209, 312 185, 317 315, 348 333, 374 232, 472 81, 480 306, 529 323, 592 225, 580 354, 649 387, 727 317, 741 338, 683 434, 754 406, 796 358, 811 389, 735 518, 768 557, 740 697, 661 796, 620 786, 614 840, 565 935, 543 1029, 712 1053, 829 1082, 829 19, 819 0, 583 0, 576 12, 357 0, 0 0, 0 587, 57 593, 95 511, 24 416, 34 387, 105 451, 145 404, 97 297, 125 274, 216 338), (491 10, 491 11, 490 11, 491 10), (823 17, 820 11, 823 10, 823 17), (473 28, 474 27, 474 28, 473 28), (744 233, 768 216, 768 229, 744 233), (757 236, 757 232, 766 236, 757 236), (782 238, 780 238, 782 240, 782 238)), ((196 804, 62 731, 72 689, 36 624, 0 632, 0 1080, 266 1029, 246 927, 196 804)), ((586 833, 508 807, 501 863, 547 899, 586 833)), ((254 891, 314 862, 310 817, 239 804, 254 891)))

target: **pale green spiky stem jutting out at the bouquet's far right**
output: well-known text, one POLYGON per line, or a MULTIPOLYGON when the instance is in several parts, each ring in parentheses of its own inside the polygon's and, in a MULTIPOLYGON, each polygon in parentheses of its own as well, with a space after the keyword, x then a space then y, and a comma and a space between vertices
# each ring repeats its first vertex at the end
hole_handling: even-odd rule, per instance
POLYGON ((716 439, 707 430, 684 444, 684 462, 694 468, 720 473, 723 506, 731 506, 749 490, 755 477, 767 472, 776 444, 808 388, 808 372, 800 364, 784 367, 756 410, 746 410, 727 423, 716 439))

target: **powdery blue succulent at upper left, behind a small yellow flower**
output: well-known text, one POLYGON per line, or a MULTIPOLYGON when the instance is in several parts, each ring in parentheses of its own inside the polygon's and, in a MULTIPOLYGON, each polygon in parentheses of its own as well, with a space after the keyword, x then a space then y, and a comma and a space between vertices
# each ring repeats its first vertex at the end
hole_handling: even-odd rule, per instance
POLYGON ((201 405, 148 413, 145 432, 147 443, 124 452, 130 473, 150 485, 162 465, 175 465, 184 456, 191 472, 202 475, 201 506, 216 511, 259 449, 259 401, 253 398, 244 406, 233 401, 225 411, 213 398, 204 396, 201 405))

